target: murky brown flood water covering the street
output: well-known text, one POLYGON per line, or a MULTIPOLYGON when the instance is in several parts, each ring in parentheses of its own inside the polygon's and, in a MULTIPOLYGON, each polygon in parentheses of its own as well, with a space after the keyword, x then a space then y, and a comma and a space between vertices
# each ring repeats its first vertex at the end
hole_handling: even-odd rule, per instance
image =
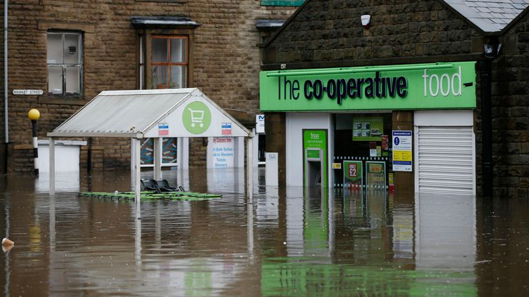
MULTIPOLYGON (((0 177, 0 296, 529 296, 529 201, 264 186, 164 171, 208 201, 77 197, 129 173, 0 177)), ((152 172, 143 173, 150 178, 152 172)))

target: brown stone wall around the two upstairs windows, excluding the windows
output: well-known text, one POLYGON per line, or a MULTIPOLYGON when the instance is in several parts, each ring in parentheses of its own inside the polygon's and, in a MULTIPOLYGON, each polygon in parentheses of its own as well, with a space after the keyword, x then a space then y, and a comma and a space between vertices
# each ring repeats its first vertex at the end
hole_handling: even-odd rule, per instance
MULTIPOLYGON (((84 93, 80 98, 70 100, 10 94, 8 170, 32 171, 32 158, 28 157, 32 143, 27 117, 30 109, 41 111, 39 137, 45 137, 99 92, 138 89, 138 40, 130 17, 186 16, 202 23, 194 30, 193 87, 202 89, 223 108, 256 113, 260 70, 256 45, 260 40, 255 21, 287 19, 294 9, 261 6, 259 0, 10 1, 9 91, 43 89, 47 93, 46 32, 56 29, 83 32, 84 93)), ((3 58, 1 60, 3 66, 3 58)), ((3 67, 1 73, 3 76, 3 67)), ((1 87, 3 89, 3 83, 1 87)), ((0 104, 3 111, 3 100, 0 104)), ((3 138, 3 129, 0 135, 3 138)), ((87 166, 89 154, 86 150, 89 148, 92 150, 92 168, 129 166, 129 140, 92 140, 81 153, 84 167, 87 166)), ((193 148, 191 151, 203 152, 203 156, 196 158, 196 165, 205 163, 205 149, 193 148)), ((0 157, 2 162, 6 155, 0 157)))

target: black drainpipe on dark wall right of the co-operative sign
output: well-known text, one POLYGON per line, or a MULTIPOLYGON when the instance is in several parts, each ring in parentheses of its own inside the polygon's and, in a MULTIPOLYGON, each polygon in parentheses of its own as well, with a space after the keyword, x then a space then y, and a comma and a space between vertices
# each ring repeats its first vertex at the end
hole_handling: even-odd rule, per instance
POLYGON ((492 197, 492 61, 501 44, 486 44, 481 66, 481 131, 482 131, 482 190, 484 197, 492 197))

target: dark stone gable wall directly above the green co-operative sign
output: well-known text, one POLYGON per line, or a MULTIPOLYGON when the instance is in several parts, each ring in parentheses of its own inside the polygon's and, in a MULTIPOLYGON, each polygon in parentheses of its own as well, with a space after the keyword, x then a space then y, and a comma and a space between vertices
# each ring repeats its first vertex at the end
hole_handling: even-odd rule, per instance
POLYGON ((294 65, 411 63, 433 56, 449 61, 482 51, 475 28, 435 0, 311 0, 269 49, 275 49, 276 60, 267 63, 294 65), (369 29, 361 25, 362 14, 371 15, 369 29))

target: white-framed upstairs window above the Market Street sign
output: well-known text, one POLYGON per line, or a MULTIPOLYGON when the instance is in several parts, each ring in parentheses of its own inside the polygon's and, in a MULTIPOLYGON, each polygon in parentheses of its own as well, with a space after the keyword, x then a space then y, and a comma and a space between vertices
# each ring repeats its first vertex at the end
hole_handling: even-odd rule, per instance
POLYGON ((83 75, 82 35, 77 32, 48 32, 48 94, 81 94, 83 75))

